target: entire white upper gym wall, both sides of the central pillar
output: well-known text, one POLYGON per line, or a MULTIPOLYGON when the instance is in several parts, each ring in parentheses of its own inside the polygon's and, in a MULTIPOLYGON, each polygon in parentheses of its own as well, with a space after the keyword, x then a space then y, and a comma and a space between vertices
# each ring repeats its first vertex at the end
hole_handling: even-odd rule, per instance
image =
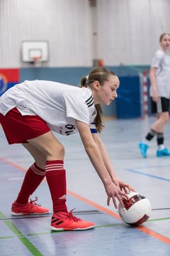
POLYGON ((97 0, 96 10, 89 0, 0 0, 0 68, 30 66, 21 62, 23 40, 49 41, 49 67, 90 66, 93 58, 148 65, 170 31, 169 11, 170 0, 97 0))

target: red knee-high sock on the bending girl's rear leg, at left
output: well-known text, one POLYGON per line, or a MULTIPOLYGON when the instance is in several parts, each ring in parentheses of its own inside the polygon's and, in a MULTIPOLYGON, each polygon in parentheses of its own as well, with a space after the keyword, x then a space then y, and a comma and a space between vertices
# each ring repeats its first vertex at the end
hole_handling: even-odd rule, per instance
POLYGON ((16 203, 28 203, 28 198, 40 185, 42 179, 45 177, 45 170, 33 164, 26 172, 26 176, 21 186, 21 191, 18 193, 16 203))

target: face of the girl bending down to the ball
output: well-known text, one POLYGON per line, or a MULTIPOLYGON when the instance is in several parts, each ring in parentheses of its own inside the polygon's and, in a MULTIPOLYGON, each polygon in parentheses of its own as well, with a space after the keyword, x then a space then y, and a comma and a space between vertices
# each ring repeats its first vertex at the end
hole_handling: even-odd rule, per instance
POLYGON ((119 79, 116 75, 110 75, 108 81, 105 81, 101 86, 96 81, 96 93, 94 95, 94 103, 101 103, 103 105, 110 105, 116 97, 118 97, 116 90, 119 87, 119 79))

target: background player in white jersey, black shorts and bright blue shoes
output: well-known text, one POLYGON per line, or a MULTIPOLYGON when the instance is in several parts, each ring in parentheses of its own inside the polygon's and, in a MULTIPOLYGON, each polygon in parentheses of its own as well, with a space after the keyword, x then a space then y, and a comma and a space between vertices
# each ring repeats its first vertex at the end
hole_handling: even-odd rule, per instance
POLYGON ((170 151, 164 146, 164 125, 169 121, 170 98, 170 34, 164 33, 159 38, 161 48, 154 54, 149 71, 151 82, 150 95, 152 97, 152 113, 157 113, 157 120, 140 142, 140 152, 147 157, 149 142, 157 136, 157 156, 170 156, 170 151))

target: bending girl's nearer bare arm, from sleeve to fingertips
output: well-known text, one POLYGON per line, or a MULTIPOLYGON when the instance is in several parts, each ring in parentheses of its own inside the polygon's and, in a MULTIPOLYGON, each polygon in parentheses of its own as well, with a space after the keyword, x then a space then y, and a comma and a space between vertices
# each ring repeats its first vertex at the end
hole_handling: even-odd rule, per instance
POLYGON ((94 169, 98 173, 98 176, 101 178, 101 181, 103 182, 103 185, 106 189, 106 193, 108 195, 108 206, 111 198, 113 200, 115 208, 118 208, 115 198, 118 198, 118 201, 120 201, 120 204, 123 206, 122 196, 125 196, 125 198, 127 199, 128 196, 126 195, 126 193, 120 190, 119 186, 115 185, 110 174, 108 173, 101 152, 98 149, 94 138, 92 137, 89 125, 79 120, 76 120, 76 124, 77 129, 79 130, 81 140, 84 144, 86 154, 88 154, 89 159, 91 160, 91 164, 93 164, 94 169))

